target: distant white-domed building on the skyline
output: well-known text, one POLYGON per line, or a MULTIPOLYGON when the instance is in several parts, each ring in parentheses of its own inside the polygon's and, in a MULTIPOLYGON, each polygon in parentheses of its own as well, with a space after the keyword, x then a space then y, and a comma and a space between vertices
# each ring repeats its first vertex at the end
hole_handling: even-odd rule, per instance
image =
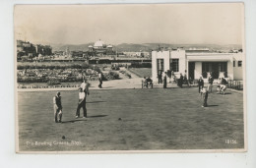
POLYGON ((91 56, 103 56, 103 55, 114 55, 115 52, 113 51, 112 45, 106 45, 104 41, 100 39, 97 40, 93 45, 88 46, 89 54, 91 56))

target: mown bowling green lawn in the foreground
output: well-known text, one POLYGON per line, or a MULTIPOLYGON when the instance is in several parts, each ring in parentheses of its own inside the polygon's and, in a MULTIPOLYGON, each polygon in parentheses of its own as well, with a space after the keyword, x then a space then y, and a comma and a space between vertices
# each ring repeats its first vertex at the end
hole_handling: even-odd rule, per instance
POLYGON ((21 151, 243 148, 243 94, 228 89, 226 93, 209 94, 209 107, 202 108, 196 87, 91 90, 88 118, 75 119, 78 92, 61 91, 63 123, 56 124, 55 91, 18 92, 19 147, 21 151))

